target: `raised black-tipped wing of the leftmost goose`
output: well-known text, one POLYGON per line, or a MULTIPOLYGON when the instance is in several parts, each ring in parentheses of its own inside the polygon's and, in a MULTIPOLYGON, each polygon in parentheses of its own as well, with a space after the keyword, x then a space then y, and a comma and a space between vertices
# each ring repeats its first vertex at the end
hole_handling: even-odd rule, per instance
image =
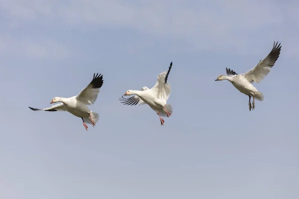
POLYGON ((99 73, 94 74, 94 77, 90 84, 84 88, 77 96, 76 100, 79 100, 87 105, 95 103, 100 93, 100 88, 103 85, 103 75, 99 73))

